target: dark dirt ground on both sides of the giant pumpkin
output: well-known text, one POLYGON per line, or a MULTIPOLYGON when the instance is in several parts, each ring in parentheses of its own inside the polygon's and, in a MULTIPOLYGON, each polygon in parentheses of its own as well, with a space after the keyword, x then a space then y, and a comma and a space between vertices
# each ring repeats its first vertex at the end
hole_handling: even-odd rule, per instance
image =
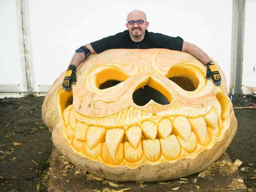
MULTIPOLYGON (((44 97, 0 99, 0 191, 47 191, 51 134, 42 122, 44 97)), ((227 149, 247 188, 256 189, 256 109, 234 109, 238 129, 227 149)))

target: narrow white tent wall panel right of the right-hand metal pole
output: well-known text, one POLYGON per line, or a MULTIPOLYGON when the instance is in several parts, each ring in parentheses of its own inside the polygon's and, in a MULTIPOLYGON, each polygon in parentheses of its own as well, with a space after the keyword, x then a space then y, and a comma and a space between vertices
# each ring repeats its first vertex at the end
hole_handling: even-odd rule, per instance
POLYGON ((243 94, 256 94, 256 1, 246 0, 244 29, 243 94))

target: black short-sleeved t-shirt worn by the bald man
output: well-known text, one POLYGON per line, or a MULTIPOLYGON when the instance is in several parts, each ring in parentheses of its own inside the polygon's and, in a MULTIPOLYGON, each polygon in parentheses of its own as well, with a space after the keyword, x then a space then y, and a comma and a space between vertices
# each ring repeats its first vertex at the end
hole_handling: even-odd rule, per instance
POLYGON ((181 51, 183 39, 181 37, 170 37, 161 33, 145 31, 144 39, 140 42, 132 41, 129 31, 117 33, 90 43, 96 53, 108 49, 151 49, 165 48, 181 51))

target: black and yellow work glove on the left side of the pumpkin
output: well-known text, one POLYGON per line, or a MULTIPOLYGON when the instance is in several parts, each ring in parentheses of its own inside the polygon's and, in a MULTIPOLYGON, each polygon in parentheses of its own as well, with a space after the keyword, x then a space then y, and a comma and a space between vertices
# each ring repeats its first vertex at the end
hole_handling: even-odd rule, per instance
POLYGON ((71 82, 76 83, 76 66, 69 65, 62 83, 65 91, 71 91, 71 82))

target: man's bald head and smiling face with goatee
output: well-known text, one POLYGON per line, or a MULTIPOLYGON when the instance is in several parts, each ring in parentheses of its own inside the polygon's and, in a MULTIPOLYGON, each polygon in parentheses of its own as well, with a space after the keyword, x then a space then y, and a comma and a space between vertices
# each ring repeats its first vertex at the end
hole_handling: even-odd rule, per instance
MULTIPOLYGON (((130 20, 147 20, 146 14, 142 11, 132 11, 131 13, 129 13, 127 15, 127 22, 130 20)), ((129 25, 128 23, 126 23, 126 27, 129 30, 129 34, 132 38, 132 40, 139 40, 142 41, 145 35, 145 31, 148 27, 148 22, 144 22, 142 25, 138 25, 137 23, 135 23, 134 25, 129 25)))

